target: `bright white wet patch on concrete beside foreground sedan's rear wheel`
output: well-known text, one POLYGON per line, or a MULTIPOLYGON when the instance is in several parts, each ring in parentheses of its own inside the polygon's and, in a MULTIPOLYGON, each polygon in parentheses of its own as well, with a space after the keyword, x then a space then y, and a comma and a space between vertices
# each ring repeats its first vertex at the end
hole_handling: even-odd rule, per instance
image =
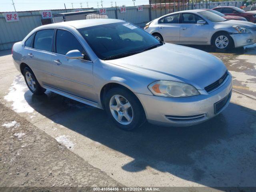
POLYGON ((8 102, 12 102, 12 110, 17 113, 28 112, 32 113, 34 109, 26 102, 25 93, 28 91, 28 86, 20 74, 15 77, 12 86, 9 88, 9 93, 4 96, 8 102))

